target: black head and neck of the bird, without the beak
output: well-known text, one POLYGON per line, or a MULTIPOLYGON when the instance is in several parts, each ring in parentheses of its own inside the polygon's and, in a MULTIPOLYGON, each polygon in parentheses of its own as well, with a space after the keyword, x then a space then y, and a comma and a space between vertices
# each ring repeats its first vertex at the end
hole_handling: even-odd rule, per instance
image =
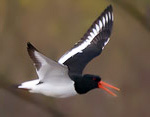
POLYGON ((99 76, 86 74, 84 76, 74 76, 75 90, 79 94, 87 93, 88 91, 98 88, 98 83, 101 81, 99 76))

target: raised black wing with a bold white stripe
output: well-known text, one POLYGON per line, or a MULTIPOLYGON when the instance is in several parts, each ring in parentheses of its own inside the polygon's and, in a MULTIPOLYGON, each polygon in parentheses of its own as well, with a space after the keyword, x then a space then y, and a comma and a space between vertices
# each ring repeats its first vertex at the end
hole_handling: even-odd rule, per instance
POLYGON ((82 74, 89 61, 100 55, 108 43, 113 26, 112 6, 108 6, 95 20, 87 33, 74 47, 65 53, 59 63, 67 65, 71 74, 82 74))

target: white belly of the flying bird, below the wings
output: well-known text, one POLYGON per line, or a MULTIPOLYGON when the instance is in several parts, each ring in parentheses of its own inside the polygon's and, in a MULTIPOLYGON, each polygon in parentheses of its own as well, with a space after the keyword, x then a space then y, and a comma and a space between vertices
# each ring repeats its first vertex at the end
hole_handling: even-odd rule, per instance
POLYGON ((46 96, 56 97, 56 98, 65 98, 74 96, 77 94, 74 88, 74 82, 69 81, 67 83, 61 82, 57 84, 51 84, 51 83, 42 83, 39 85, 36 85, 32 90, 30 90, 32 93, 40 93, 46 96))

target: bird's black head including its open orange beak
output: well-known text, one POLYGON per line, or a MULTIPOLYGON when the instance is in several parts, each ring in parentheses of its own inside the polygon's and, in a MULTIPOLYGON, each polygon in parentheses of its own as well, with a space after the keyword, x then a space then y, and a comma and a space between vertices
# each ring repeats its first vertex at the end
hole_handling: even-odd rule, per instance
MULTIPOLYGON (((79 77, 79 76, 78 76, 79 77)), ((105 83, 101 80, 100 76, 96 76, 96 75, 83 75, 80 78, 75 78, 75 89, 79 94, 85 94, 88 91, 95 89, 95 88, 101 88, 104 89, 105 91, 107 91, 108 93, 110 93, 113 96, 116 96, 115 93, 113 93, 112 91, 110 91, 108 88, 112 88, 115 89, 117 91, 119 91, 120 89, 117 87, 114 87, 108 83, 105 83)))

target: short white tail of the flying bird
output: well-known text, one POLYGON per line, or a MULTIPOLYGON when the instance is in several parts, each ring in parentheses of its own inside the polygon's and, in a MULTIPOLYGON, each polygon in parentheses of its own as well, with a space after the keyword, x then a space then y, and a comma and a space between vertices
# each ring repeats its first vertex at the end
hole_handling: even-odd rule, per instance
POLYGON ((34 86, 36 86, 38 83, 39 83, 39 79, 31 80, 18 85, 18 88, 25 89, 25 90, 32 90, 34 86))

